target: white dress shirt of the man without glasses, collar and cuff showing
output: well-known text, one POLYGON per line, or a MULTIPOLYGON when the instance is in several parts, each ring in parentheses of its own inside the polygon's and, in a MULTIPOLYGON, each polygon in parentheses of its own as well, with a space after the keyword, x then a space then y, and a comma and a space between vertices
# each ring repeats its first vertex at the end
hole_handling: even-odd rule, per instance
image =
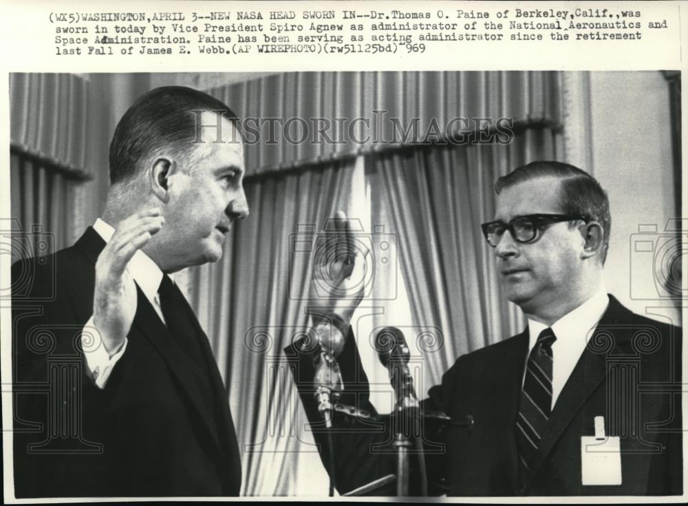
MULTIPOLYGON (((115 233, 115 229, 100 218, 96 220, 93 228, 105 242, 109 242, 112 235, 115 233)), ((160 288, 163 273, 160 271, 158 265, 155 264, 146 253, 138 250, 133 254, 131 260, 129 260, 124 275, 131 276, 134 283, 141 288, 141 291, 149 300, 153 309, 155 309, 155 313, 158 313, 158 316, 164 323, 165 319, 162 315, 162 308, 160 307, 160 295, 158 295, 158 288, 160 288)), ((125 284, 125 286, 129 285, 125 284)), ((127 300, 131 301, 132 304, 136 304, 136 293, 131 294, 131 296, 127 294, 127 300)), ((98 388, 104 388, 112 372, 112 368, 114 368, 118 360, 124 355, 127 349, 128 340, 125 337, 125 341, 122 343, 120 349, 110 357, 99 338, 95 341, 91 339, 93 331, 89 332, 89 328, 95 330, 96 336, 102 335, 100 330, 94 325, 93 316, 89 318, 84 326, 81 343, 89 372, 91 372, 98 388)))

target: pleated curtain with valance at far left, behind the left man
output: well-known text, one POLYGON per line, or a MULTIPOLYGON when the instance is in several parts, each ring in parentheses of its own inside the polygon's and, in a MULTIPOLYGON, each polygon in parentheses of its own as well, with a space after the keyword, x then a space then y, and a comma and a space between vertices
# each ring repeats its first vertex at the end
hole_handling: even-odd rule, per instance
POLYGON ((12 261, 52 253, 80 233, 74 205, 91 176, 89 98, 89 83, 74 74, 10 74, 12 261))

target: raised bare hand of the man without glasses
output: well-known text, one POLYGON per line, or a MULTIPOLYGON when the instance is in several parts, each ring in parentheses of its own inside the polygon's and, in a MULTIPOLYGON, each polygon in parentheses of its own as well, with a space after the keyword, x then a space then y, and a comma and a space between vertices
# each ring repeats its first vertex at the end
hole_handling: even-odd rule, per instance
POLYGON ((98 256, 93 321, 110 356, 122 346, 136 315, 136 286, 127 264, 163 224, 157 207, 133 214, 118 224, 98 256))

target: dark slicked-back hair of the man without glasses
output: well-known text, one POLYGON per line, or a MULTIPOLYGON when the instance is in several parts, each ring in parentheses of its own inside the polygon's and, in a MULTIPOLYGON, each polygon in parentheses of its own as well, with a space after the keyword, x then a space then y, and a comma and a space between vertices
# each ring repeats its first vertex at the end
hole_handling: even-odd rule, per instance
POLYGON ((110 143, 110 183, 135 176, 139 164, 156 149, 171 147, 182 152, 197 134, 193 111, 222 111, 238 124, 237 115, 226 104, 197 89, 164 86, 140 96, 129 107, 115 129, 110 143))

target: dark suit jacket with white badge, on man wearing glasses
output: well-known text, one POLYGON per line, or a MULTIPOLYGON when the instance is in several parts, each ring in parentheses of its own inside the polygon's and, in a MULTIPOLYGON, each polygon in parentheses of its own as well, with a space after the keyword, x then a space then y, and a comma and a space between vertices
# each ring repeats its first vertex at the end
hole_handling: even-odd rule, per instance
MULTIPOLYGON (((301 399, 315 423, 319 417, 308 391, 309 362, 299 359, 295 348, 287 352, 295 360, 301 399)), ((450 427, 441 436, 426 435, 427 441, 445 445, 443 454, 426 459, 431 483, 442 482, 446 492, 460 496, 682 494, 680 329, 636 315, 610 296, 608 310, 552 410, 533 475, 522 486, 514 431, 527 355, 526 328, 460 357, 442 383, 431 388, 424 408, 442 410, 457 421, 467 415, 474 420, 471 430, 450 427), (606 434, 621 438, 621 485, 582 485, 581 436, 594 435, 599 415, 606 434)), ((352 335, 339 362, 347 391, 342 401, 374 412, 352 335)), ((395 472, 394 456, 372 450, 376 442, 389 440, 389 428, 366 430, 358 424, 358 432, 352 433, 341 431, 351 431, 351 421, 339 419, 336 425, 341 492, 395 472)), ((322 434, 315 431, 326 450, 322 434)))

